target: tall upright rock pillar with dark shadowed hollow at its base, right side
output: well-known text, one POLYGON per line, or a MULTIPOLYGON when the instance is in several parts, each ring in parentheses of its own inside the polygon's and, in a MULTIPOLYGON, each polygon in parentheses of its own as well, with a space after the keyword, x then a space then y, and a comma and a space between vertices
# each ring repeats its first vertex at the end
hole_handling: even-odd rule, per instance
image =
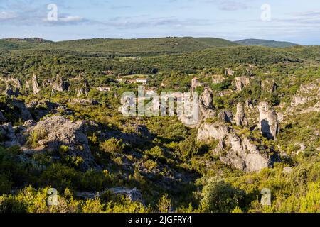
POLYGON ((277 133, 279 133, 279 122, 276 111, 271 108, 267 101, 260 102, 258 109, 260 114, 258 127, 262 135, 270 140, 275 140, 277 133))

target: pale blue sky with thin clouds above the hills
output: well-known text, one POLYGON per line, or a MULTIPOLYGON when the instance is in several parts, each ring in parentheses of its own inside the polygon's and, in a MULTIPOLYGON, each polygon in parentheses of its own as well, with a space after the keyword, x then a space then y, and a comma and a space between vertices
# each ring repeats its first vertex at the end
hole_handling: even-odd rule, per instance
POLYGON ((0 38, 168 36, 320 45, 320 0, 0 0, 0 38))

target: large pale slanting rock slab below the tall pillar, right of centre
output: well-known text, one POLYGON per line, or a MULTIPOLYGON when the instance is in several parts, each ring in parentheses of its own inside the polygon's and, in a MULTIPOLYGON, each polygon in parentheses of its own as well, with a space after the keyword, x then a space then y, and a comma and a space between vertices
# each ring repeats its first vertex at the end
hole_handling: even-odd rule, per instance
POLYGON ((204 123, 198 129, 197 139, 207 143, 218 140, 217 152, 220 160, 239 170, 260 171, 279 161, 279 157, 274 153, 260 150, 249 138, 240 138, 233 128, 220 123, 204 123))

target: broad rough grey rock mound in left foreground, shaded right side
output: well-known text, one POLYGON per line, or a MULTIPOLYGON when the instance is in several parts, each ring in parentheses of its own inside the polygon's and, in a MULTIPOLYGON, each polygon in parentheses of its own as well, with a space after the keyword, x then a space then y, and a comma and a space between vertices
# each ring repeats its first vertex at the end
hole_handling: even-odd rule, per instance
POLYGON ((79 167, 83 170, 88 170, 90 167, 95 167, 95 162, 87 140, 87 128, 88 126, 85 122, 73 122, 63 116, 53 116, 21 128, 18 140, 21 144, 28 146, 26 143, 28 136, 37 135, 36 143, 38 148, 36 150, 53 154, 59 154, 63 145, 66 150, 60 155, 68 155, 71 158, 80 157, 82 161, 79 163, 79 167))

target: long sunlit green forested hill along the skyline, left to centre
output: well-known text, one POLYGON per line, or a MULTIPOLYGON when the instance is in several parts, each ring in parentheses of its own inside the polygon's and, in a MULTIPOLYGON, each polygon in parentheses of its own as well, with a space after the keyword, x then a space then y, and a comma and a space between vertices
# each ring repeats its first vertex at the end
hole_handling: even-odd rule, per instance
POLYGON ((164 55, 194 52, 212 47, 238 45, 220 38, 140 38, 69 40, 55 43, 31 43, 27 40, 0 40, 0 50, 71 50, 90 53, 112 53, 124 56, 164 55), (2 43, 2 45, 1 45, 2 43))

